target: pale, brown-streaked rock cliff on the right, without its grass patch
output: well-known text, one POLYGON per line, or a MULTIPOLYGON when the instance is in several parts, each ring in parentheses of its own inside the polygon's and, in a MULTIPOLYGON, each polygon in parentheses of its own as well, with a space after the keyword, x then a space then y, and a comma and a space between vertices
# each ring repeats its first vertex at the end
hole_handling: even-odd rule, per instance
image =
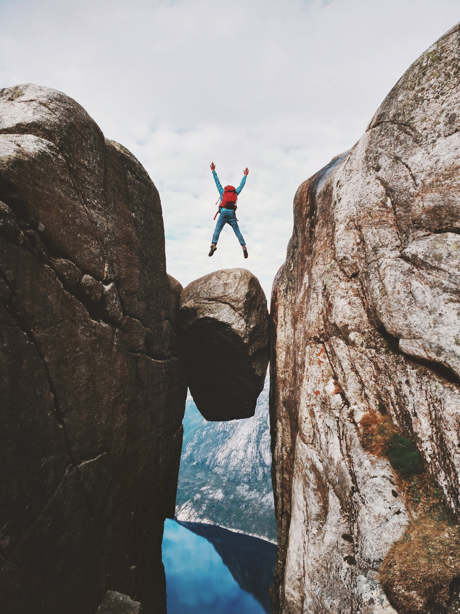
POLYGON ((460 514, 459 40, 294 199, 272 295, 274 612, 394 612, 377 572, 408 516, 362 449, 368 411, 391 412, 460 514))

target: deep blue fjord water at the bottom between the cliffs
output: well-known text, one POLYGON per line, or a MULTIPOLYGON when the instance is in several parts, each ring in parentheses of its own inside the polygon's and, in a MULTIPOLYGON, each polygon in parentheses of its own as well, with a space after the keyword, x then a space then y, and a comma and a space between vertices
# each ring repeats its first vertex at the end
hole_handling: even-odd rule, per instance
POLYGON ((266 614, 276 546, 201 523, 166 520, 168 614, 266 614))

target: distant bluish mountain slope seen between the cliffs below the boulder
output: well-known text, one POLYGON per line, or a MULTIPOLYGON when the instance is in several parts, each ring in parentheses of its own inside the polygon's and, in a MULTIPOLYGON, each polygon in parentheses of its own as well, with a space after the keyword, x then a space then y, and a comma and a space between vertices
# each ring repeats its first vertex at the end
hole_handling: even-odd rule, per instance
POLYGON ((176 518, 276 542, 269 378, 252 418, 207 422, 187 397, 176 518))

